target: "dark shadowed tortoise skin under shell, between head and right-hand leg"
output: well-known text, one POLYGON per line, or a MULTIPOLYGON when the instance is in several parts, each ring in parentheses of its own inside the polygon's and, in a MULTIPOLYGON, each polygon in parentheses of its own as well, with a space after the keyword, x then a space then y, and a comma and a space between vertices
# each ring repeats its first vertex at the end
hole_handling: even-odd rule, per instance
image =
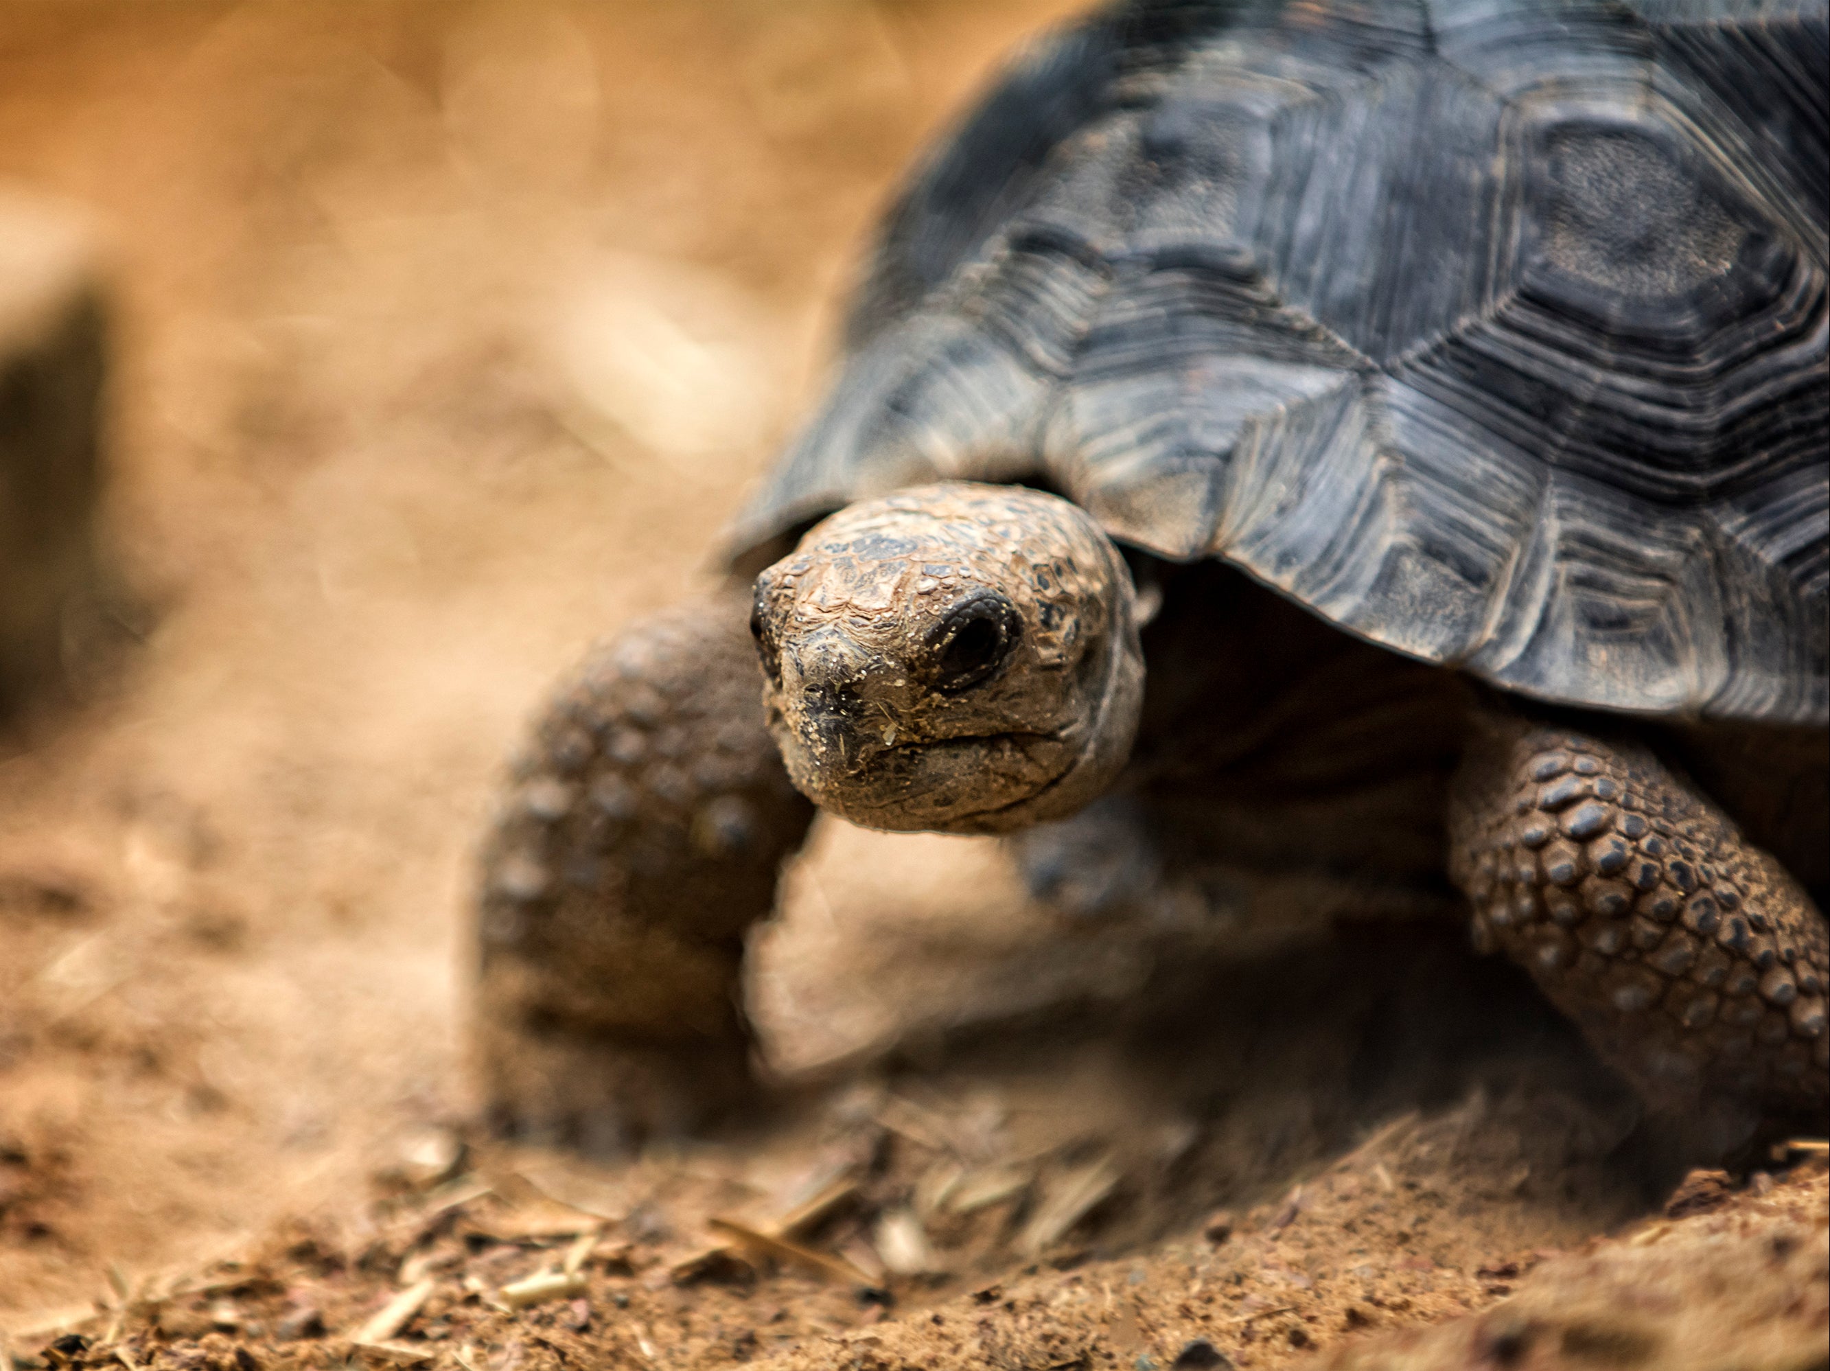
POLYGON ((1210 860, 1440 884, 1466 686, 1222 562, 1166 566, 1125 785, 1210 860))

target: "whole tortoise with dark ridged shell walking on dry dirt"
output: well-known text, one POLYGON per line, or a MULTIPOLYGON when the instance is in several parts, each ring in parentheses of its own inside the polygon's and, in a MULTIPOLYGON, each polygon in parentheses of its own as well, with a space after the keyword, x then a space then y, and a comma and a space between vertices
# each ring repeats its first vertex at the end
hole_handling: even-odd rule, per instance
POLYGON ((1687 1146, 1821 1129, 1826 71, 1823 0, 1127 4, 1019 55, 728 586, 514 763, 492 1118, 748 1098, 818 804, 1010 835, 1089 913, 1471 919, 1687 1146))

